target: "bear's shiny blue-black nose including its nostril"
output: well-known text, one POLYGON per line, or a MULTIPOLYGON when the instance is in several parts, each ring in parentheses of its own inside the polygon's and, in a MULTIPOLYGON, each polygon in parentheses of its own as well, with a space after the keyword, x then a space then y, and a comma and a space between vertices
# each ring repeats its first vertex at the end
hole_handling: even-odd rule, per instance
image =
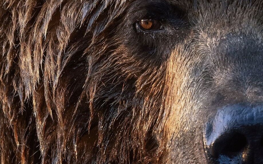
POLYGON ((228 105, 206 123, 204 145, 219 164, 263 163, 263 106, 228 105))

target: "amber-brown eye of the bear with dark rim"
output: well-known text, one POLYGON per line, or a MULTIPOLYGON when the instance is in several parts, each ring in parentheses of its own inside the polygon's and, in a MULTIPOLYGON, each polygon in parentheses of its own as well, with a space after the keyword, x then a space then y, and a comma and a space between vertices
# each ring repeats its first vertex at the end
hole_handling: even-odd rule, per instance
POLYGON ((154 19, 142 19, 139 22, 139 27, 143 31, 156 31, 162 28, 162 24, 160 21, 154 19))

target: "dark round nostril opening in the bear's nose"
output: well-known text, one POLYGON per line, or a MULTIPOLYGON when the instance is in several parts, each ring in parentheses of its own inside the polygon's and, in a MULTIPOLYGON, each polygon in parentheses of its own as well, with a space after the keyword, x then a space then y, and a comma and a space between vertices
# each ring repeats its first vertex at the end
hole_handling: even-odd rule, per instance
POLYGON ((239 155, 247 145, 246 137, 240 133, 225 134, 215 141, 214 155, 234 157, 239 155))

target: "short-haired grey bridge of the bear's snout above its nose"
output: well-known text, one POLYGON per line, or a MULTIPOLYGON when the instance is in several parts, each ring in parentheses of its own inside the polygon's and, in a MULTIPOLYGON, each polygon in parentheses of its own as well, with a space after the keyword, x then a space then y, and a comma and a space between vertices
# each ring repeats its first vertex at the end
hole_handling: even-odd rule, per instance
POLYGON ((220 93, 225 98, 225 102, 218 103, 262 102, 263 43, 244 34, 227 34, 222 38, 212 48, 208 60, 213 77, 211 94, 220 93))

